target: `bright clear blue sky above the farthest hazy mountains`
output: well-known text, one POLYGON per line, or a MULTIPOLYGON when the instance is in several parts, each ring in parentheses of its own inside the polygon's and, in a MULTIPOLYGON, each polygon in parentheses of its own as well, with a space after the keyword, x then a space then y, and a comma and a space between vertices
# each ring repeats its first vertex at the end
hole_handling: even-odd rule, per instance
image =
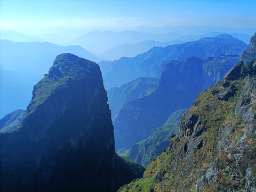
POLYGON ((255 0, 0 0, 0 29, 47 33, 56 28, 210 25, 255 28, 255 0))

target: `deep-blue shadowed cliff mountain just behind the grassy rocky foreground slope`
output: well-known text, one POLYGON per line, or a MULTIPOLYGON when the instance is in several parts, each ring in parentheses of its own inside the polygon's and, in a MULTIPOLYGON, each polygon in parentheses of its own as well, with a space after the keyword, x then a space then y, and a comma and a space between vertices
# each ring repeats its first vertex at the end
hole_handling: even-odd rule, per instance
POLYGON ((220 55, 165 63, 156 89, 119 111, 115 119, 116 149, 146 139, 175 110, 189 108, 198 93, 217 83, 238 60, 237 55, 220 55))

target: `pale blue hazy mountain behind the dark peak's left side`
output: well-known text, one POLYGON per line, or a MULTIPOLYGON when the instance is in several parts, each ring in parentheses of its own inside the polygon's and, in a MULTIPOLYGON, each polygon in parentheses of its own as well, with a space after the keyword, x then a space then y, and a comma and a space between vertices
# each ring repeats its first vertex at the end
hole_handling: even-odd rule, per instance
POLYGON ((0 39, 0 117, 26 109, 33 86, 47 73, 56 55, 69 52, 98 62, 101 58, 81 46, 58 46, 48 42, 12 42, 0 39))

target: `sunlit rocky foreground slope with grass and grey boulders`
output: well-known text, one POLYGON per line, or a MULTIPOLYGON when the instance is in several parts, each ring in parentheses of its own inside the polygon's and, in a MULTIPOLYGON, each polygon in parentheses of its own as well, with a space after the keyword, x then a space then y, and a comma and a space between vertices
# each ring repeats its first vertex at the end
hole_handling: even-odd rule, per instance
POLYGON ((143 179, 119 191, 256 190, 256 34, 224 81, 197 96, 143 179))

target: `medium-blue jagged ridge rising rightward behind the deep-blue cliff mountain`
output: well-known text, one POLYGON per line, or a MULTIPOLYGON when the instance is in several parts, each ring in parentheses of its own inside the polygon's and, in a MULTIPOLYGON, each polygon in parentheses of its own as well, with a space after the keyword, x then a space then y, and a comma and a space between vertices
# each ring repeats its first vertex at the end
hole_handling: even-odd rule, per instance
POLYGON ((171 59, 206 59, 220 54, 241 54, 246 44, 227 34, 204 37, 194 42, 153 47, 133 58, 99 62, 106 89, 120 86, 138 77, 158 77, 163 64, 171 59), (125 73, 123 73, 125 71, 125 73))

